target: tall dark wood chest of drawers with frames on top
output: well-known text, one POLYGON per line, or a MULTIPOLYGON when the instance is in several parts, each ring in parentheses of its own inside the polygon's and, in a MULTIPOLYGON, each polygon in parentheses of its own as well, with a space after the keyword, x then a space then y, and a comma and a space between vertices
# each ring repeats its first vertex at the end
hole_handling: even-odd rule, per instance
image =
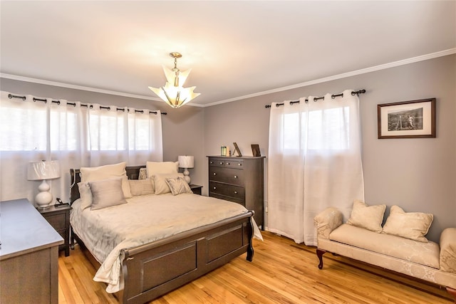
POLYGON ((255 211, 264 229, 264 157, 209 158, 209 196, 234 201, 255 211))

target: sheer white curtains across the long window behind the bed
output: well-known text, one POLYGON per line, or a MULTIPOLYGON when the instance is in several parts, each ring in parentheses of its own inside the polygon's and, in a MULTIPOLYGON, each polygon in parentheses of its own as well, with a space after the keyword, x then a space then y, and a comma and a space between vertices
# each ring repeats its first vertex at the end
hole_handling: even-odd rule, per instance
POLYGON ((27 180, 28 162, 58 160, 61 177, 47 182, 54 198, 68 201, 71 168, 163 159, 160 111, 9 95, 19 94, 1 91, 1 201, 34 201, 40 181, 27 180))

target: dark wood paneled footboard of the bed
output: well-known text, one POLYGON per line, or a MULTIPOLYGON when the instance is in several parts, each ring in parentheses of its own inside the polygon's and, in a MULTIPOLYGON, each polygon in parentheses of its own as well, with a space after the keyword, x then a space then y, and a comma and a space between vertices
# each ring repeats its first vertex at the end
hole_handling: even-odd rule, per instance
POLYGON ((120 303, 145 303, 228 263, 247 251, 252 261, 253 212, 171 238, 123 249, 120 303))

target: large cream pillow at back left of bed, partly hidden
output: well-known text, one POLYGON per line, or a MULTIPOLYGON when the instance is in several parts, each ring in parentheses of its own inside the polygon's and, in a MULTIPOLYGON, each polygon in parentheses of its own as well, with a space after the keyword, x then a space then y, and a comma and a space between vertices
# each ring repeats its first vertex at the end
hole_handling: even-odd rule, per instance
POLYGON ((130 184, 128 184, 127 172, 125 171, 126 162, 118 164, 106 164, 100 167, 83 167, 81 168, 81 182, 93 182, 113 177, 123 177, 122 190, 125 198, 132 197, 130 184))

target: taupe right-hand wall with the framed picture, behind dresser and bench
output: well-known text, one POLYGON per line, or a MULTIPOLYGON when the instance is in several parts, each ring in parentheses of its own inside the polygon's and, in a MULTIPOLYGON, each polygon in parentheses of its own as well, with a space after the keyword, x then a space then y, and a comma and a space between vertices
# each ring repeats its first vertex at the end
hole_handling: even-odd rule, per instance
POLYGON ((456 227, 456 55, 205 108, 205 152, 219 154, 221 145, 237 142, 252 155, 256 143, 267 156, 264 105, 346 89, 366 89, 360 95, 366 202, 434 214, 428 237, 438 241, 442 229, 456 227), (434 97, 437 138, 378 140, 378 104, 434 97))

